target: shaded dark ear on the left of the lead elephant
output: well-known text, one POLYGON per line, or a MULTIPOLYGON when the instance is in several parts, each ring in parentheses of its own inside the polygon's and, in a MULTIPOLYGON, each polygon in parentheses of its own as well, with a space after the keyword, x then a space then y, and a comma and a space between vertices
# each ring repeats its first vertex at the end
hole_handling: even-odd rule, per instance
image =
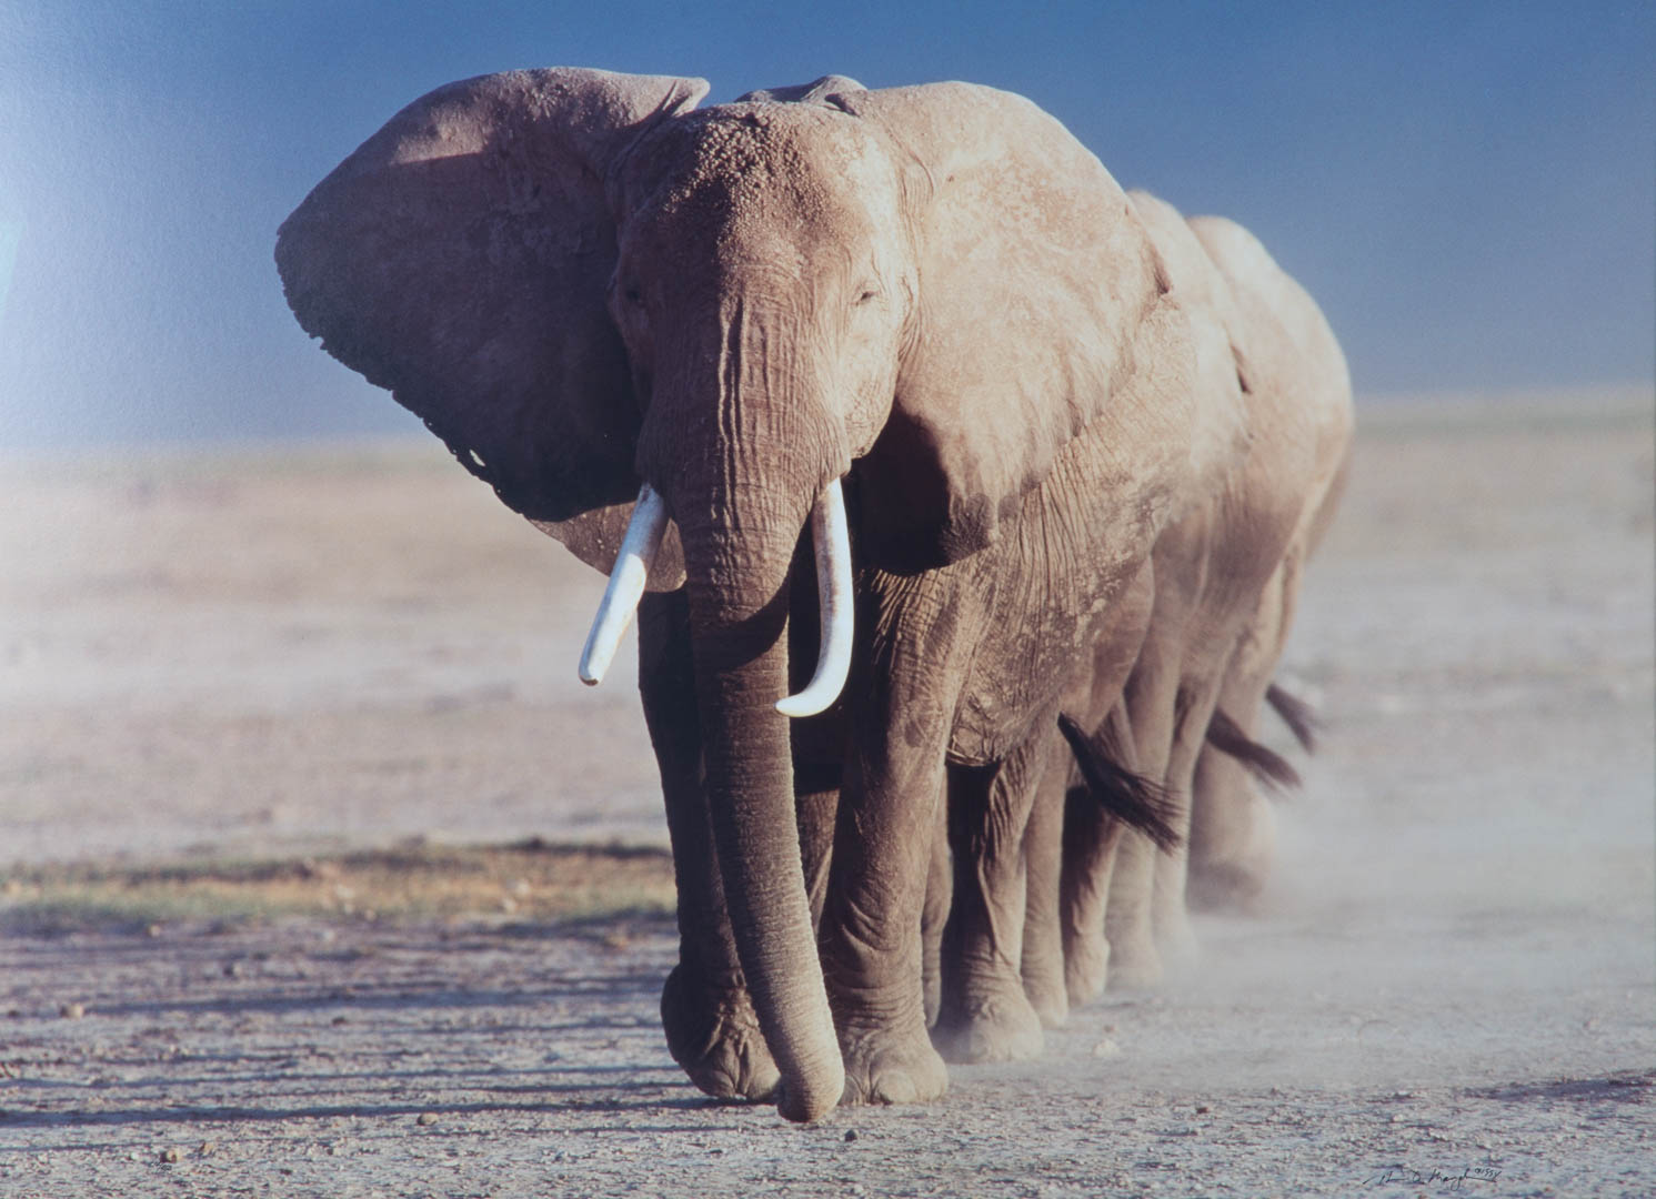
POLYGON ((391 118, 277 235, 305 331, 599 570, 639 485, 639 412, 604 310, 603 181, 705 93, 575 68, 450 83, 391 118))

